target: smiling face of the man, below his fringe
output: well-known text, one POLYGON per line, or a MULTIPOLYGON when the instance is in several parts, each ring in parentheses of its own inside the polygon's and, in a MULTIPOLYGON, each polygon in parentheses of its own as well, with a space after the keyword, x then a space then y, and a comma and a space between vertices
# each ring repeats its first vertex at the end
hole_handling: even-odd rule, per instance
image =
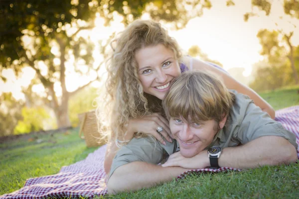
POLYGON ((212 119, 202 123, 190 123, 183 118, 170 118, 171 133, 179 144, 182 156, 190 158, 208 147, 216 133, 218 123, 212 119))

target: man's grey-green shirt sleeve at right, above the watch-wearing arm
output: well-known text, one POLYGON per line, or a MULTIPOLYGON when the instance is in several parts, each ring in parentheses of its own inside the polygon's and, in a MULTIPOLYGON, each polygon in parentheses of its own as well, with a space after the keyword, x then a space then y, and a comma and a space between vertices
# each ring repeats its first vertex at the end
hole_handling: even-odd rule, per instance
POLYGON ((262 136, 281 136, 286 138, 297 149, 296 135, 286 130, 283 125, 273 120, 268 113, 261 110, 254 103, 249 103, 245 117, 239 129, 234 132, 233 137, 237 138, 242 144, 250 142, 262 136))

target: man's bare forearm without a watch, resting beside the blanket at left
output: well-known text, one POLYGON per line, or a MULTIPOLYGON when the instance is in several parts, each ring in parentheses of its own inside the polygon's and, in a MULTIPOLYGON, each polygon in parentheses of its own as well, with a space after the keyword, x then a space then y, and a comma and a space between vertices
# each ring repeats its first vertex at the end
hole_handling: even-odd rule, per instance
POLYGON ((132 162, 117 168, 108 181, 108 193, 136 191, 171 181, 188 171, 181 167, 163 168, 146 162, 132 162))

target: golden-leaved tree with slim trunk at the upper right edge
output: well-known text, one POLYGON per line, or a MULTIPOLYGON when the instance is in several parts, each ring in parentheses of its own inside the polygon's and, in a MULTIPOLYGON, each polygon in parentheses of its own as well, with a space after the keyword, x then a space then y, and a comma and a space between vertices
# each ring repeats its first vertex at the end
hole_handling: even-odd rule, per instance
MULTIPOLYGON (((268 16, 271 12, 271 5, 272 1, 271 0, 252 0, 252 5, 253 7, 258 7, 259 9, 265 11, 266 15, 268 16)), ((284 0, 284 11, 286 14, 289 14, 293 17, 296 17, 299 19, 299 0, 284 0)), ((248 21, 250 16, 255 16, 257 15, 253 11, 248 12, 244 14, 244 20, 248 21)), ((277 25, 277 23, 276 23, 277 25)), ((296 26, 294 25, 296 28, 296 26)), ((261 44, 263 46, 263 52, 261 53, 262 55, 269 56, 269 53, 271 49, 277 48, 280 49, 281 46, 279 46, 279 41, 277 39, 278 34, 283 35, 283 41, 286 42, 287 46, 289 47, 289 53, 286 55, 287 58, 289 59, 291 63, 291 68, 293 70, 293 75, 295 78, 296 84, 299 84, 299 77, 298 77, 298 71, 297 67, 295 66, 295 55, 294 55, 294 46, 291 43, 291 38, 294 34, 294 31, 291 31, 290 33, 285 33, 282 29, 279 29, 278 31, 274 31, 272 33, 267 32, 267 30, 262 30, 258 33, 258 37, 260 38, 261 44), (269 36, 268 41, 265 41, 266 37, 269 36), (276 37, 275 40, 272 40, 271 38, 276 37), (263 40, 263 41, 262 41, 263 40), (270 50, 270 51, 269 51, 270 50)), ((276 52, 279 52, 276 50, 276 52)))

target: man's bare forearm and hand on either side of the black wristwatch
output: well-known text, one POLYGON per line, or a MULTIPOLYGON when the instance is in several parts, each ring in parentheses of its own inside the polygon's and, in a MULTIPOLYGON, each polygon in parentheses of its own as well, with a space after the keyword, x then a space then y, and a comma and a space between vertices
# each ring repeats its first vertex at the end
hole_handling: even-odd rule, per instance
MULTIPOLYGON (((263 165, 289 164, 297 160, 296 148, 287 139, 280 136, 263 136, 241 146, 224 148, 218 165, 247 169, 263 165)), ((162 166, 203 169, 211 165, 207 151, 204 150, 192 158, 185 158, 179 152, 174 153, 162 166)))

